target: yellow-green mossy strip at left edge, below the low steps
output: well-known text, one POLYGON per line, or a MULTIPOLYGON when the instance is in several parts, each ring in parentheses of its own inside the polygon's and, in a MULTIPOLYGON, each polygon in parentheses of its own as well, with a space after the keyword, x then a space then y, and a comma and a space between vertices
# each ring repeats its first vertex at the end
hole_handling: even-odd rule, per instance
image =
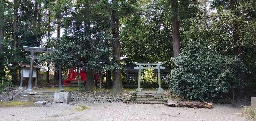
POLYGON ((0 102, 0 106, 34 106, 34 102, 28 102, 28 101, 2 101, 0 102))

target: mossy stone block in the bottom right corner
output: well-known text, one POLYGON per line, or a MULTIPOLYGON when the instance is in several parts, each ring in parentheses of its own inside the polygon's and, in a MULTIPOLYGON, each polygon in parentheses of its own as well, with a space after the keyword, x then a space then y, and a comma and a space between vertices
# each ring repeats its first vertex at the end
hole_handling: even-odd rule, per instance
POLYGON ((242 105, 242 115, 243 115, 243 117, 248 119, 248 121, 256 121, 256 109, 255 108, 242 105))

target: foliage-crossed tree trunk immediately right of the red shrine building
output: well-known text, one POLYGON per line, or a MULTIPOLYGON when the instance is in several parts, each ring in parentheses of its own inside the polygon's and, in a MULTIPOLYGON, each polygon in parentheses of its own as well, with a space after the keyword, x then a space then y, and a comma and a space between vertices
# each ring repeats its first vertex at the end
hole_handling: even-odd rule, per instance
MULTIPOLYGON (((86 0, 84 3, 84 30, 86 34, 86 46, 90 48, 90 40, 91 40, 91 16, 90 16, 90 3, 89 0, 86 0)), ((94 71, 87 69, 86 70, 86 90, 92 91, 95 89, 95 81, 94 81, 94 71)))

